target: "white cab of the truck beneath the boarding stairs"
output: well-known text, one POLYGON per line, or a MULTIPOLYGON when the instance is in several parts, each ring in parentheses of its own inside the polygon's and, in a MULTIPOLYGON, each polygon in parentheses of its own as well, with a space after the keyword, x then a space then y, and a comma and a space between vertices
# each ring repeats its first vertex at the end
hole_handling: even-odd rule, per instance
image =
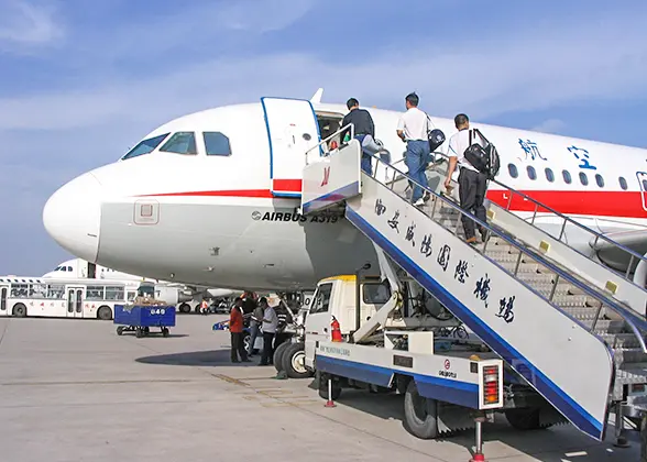
POLYGON ((339 322, 342 337, 348 338, 390 298, 388 284, 382 283, 379 276, 364 276, 358 280, 355 275, 339 275, 321 279, 305 323, 306 367, 315 370, 317 345, 331 339, 333 319, 339 322))

